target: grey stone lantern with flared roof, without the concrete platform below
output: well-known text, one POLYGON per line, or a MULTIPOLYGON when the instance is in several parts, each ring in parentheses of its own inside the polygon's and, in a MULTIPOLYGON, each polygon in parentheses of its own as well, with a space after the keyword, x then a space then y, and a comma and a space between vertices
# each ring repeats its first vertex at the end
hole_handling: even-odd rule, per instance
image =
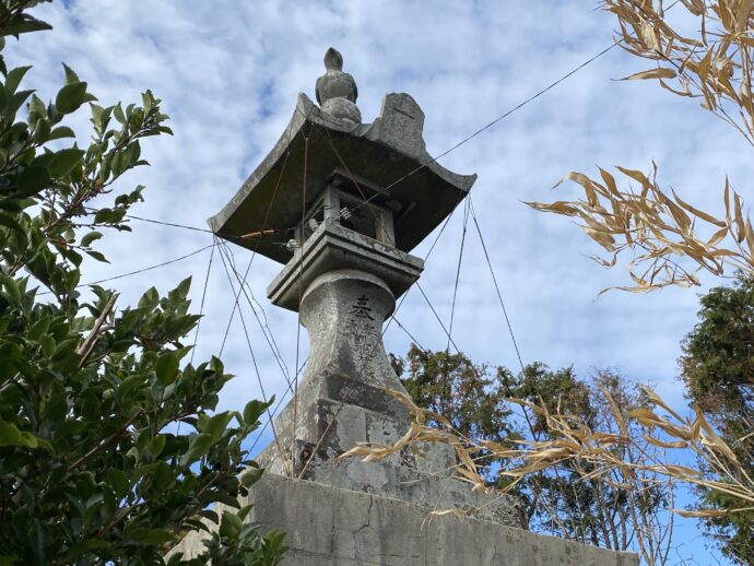
POLYGON ((299 313, 309 334, 296 398, 258 460, 268 472, 425 506, 480 507, 483 517, 520 526, 513 499, 491 504, 449 477, 450 446, 414 447, 378 463, 334 461, 356 443, 392 443, 409 426, 407 408, 386 390, 407 394, 385 353, 382 325, 422 272, 410 251, 476 176, 432 158, 424 113, 408 94, 388 94, 379 117, 361 123, 340 54, 330 49, 325 61, 321 107, 299 94, 270 154, 209 220, 220 237, 284 263, 268 296, 299 313))

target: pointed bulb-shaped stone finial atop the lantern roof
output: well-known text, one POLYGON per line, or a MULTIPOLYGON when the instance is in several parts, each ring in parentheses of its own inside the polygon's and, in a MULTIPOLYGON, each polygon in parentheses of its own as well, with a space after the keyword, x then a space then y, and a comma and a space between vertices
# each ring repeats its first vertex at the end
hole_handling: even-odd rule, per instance
POLYGON ((356 106, 358 89, 356 81, 343 72, 343 56, 330 47, 325 54, 327 72, 317 79, 317 102, 322 110, 333 118, 353 123, 362 122, 362 113, 356 106))

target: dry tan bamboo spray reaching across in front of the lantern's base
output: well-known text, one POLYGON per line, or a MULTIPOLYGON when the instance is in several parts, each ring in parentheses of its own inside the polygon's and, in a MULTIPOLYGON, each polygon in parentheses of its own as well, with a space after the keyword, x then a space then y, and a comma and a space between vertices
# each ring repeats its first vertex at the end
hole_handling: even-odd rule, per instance
MULTIPOLYGON (((610 406, 613 408, 615 428, 620 431, 616 434, 591 431, 573 415, 554 413, 544 404, 510 399, 510 402, 544 417, 551 431, 550 439, 520 440, 517 448, 511 448, 497 443, 485 440, 476 443, 462 437, 449 424, 438 431, 415 422, 393 445, 360 444, 340 458, 361 456, 365 461, 377 461, 417 443, 440 441, 450 444, 456 449, 458 455, 456 476, 471 483, 476 490, 484 490, 485 484, 474 464, 474 455, 484 450, 504 463, 498 472, 500 475, 517 480, 544 470, 556 470, 568 463, 579 471, 584 480, 598 477, 622 488, 641 488, 643 482, 653 485, 683 482, 717 490, 754 505, 754 481, 740 465, 731 448, 707 422, 702 410, 695 406, 694 418, 684 418, 670 409, 655 391, 646 389, 645 393, 651 409, 643 408, 623 414, 610 393, 604 389, 601 390, 601 394, 606 397, 610 406), (632 420, 640 426, 631 427, 632 420), (640 432, 637 433, 637 429, 640 432), (626 447, 635 450, 627 450, 626 447), (660 448, 660 450, 651 450, 649 447, 660 448), (690 449, 707 464, 714 472, 714 476, 723 477, 726 481, 710 480, 693 468, 669 463, 672 461, 672 450, 690 449), (631 456, 636 453, 641 455, 641 458, 631 456), (510 465, 511 463, 514 465, 510 465)), ((405 396, 396 397, 404 402, 415 415, 417 411, 422 411, 405 396)), ((431 415, 432 418, 437 416, 434 413, 424 413, 431 415)), ((421 418, 422 423, 426 421, 425 417, 421 418)), ((515 483, 503 492, 509 490, 515 483)), ((751 508, 670 510, 683 517, 718 517, 751 508)), ((445 511, 440 514, 443 512, 445 511)))

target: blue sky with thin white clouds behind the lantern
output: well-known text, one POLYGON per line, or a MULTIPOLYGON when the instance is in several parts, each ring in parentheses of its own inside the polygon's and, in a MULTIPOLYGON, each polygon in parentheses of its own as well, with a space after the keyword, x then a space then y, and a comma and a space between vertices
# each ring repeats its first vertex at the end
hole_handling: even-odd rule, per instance
MULTIPOLYGON (((31 62, 27 79, 43 98, 62 83, 61 61, 90 82, 101 103, 138 101, 151 89, 163 98, 175 138, 152 140, 152 163, 122 181, 146 185, 146 202, 134 214, 204 227, 205 219, 235 193, 287 123, 297 93, 314 98, 329 46, 341 50, 358 83, 364 121, 378 114, 386 93, 407 92, 422 106, 425 140, 439 154, 500 116, 612 43, 614 22, 596 2, 558 1, 313 1, 58 2, 37 9, 55 32, 11 42, 10 62, 31 62)), ((553 185, 569 170, 592 174, 596 165, 647 170, 687 201, 719 212, 724 176, 749 197, 750 149, 731 128, 693 101, 672 97, 651 83, 614 79, 646 69, 620 49, 579 71, 440 163, 476 173, 474 208, 506 300, 525 363, 574 365, 580 375, 613 367, 657 385, 683 403, 676 380, 679 342, 695 322, 697 293, 670 288, 651 295, 611 292, 625 284, 620 268, 605 271, 588 257, 591 240, 569 221, 529 210, 523 200, 554 200, 553 185)), ((79 118, 86 131, 86 118, 79 118)), ((85 143, 82 134, 81 143, 85 143)), ((563 196, 576 188, 564 185, 563 196)), ((86 266, 84 280, 156 264, 211 244, 211 236, 153 224, 133 224, 130 235, 103 240, 110 264, 86 266)), ((462 223, 456 213, 427 262, 421 284, 447 322, 462 223)), ((433 237, 428 238, 432 240, 433 237)), ((426 243, 414 253, 423 257, 426 243)), ((245 266, 248 252, 236 250, 245 266)), ((216 353, 233 295, 215 257, 198 358, 216 353)), ((193 275, 197 309, 209 250, 169 268, 117 282, 122 304, 150 285, 167 291, 193 275)), ((280 266, 255 259, 249 282, 288 367, 297 351, 295 315, 272 307, 264 288, 280 266)), ((425 347, 440 350, 446 337, 415 290, 397 314, 425 347)), ((284 380, 250 313, 246 311, 267 394, 284 380)), ((306 334, 298 344, 306 356, 306 334)), ((453 340, 472 358, 516 368, 479 240, 467 237, 453 340)), ((386 333, 389 352, 404 353, 410 339, 397 326, 386 333)), ((237 378, 221 404, 238 409, 260 397, 237 317, 224 361, 237 378)), ((715 564, 686 521, 679 540, 683 556, 715 564)))

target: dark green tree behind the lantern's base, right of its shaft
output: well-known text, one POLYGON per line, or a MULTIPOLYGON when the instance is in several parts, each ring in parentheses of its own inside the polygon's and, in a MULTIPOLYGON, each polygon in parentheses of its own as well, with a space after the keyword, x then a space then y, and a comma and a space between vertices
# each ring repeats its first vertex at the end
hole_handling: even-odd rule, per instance
MULTIPOLYGON (((475 463, 487 483, 513 487, 511 493, 527 508, 523 522, 534 531, 621 551, 636 543, 655 564, 663 563, 670 527, 660 511, 671 494, 589 476, 590 470, 576 461, 528 474, 510 486, 511 479, 499 472, 520 462, 490 458, 481 449, 485 441, 515 447, 519 440, 543 441, 557 436, 541 414, 513 412, 508 398, 547 406, 573 415, 592 431, 614 434, 615 420, 602 391, 627 414, 644 405, 637 386, 613 372, 598 372, 591 380, 582 381, 573 368, 552 370, 538 363, 516 375, 505 367, 493 370, 485 364, 474 364, 462 353, 424 351, 416 345, 410 347, 405 358, 392 359, 414 402, 447 418, 459 438, 470 440, 468 447, 480 449, 474 455, 475 463)), ((440 422, 429 424, 443 426, 440 422)))

